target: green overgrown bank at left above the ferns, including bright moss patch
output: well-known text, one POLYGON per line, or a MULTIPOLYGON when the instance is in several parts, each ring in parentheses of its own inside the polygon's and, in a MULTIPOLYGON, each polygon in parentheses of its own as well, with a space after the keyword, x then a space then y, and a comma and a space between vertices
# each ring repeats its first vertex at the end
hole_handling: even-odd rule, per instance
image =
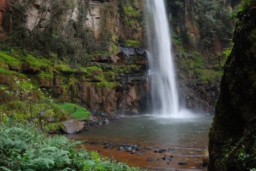
POLYGON ((26 75, 3 70, 0 73, 0 121, 12 118, 13 121, 30 121, 41 131, 53 133, 61 130, 62 121, 71 118, 88 118, 86 108, 72 103, 57 103, 49 93, 26 75), (6 76, 9 80, 4 80, 6 76), (9 85, 11 83, 11 85, 9 85))

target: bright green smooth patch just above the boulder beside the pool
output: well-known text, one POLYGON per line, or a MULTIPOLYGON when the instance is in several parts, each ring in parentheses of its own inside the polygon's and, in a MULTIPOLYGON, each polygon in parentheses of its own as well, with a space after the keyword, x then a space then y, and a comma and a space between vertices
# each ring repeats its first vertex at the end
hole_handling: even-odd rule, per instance
POLYGON ((67 111, 73 118, 89 118, 90 112, 77 104, 65 102, 58 104, 63 110, 67 111))

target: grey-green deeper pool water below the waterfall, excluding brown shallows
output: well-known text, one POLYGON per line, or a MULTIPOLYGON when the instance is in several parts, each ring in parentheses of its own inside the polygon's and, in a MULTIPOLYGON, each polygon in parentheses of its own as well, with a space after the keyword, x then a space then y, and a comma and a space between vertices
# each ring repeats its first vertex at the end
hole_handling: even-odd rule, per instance
POLYGON ((193 118, 159 118, 150 115, 122 116, 109 125, 90 127, 90 131, 69 138, 88 141, 115 141, 159 147, 207 146, 213 116, 193 118))

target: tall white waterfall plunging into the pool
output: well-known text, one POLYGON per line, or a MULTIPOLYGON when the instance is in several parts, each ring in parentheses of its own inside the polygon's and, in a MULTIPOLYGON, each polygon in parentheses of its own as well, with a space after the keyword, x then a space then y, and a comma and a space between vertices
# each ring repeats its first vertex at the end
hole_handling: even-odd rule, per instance
POLYGON ((147 0, 150 87, 154 114, 177 116, 179 96, 164 0, 147 0))

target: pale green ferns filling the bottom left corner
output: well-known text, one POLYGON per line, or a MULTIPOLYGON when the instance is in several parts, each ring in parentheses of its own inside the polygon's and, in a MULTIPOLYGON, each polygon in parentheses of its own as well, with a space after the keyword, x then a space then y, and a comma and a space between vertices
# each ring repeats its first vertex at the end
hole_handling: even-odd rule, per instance
POLYGON ((86 151, 82 142, 46 137, 29 123, 1 123, 0 139, 2 170, 139 170, 86 151))

